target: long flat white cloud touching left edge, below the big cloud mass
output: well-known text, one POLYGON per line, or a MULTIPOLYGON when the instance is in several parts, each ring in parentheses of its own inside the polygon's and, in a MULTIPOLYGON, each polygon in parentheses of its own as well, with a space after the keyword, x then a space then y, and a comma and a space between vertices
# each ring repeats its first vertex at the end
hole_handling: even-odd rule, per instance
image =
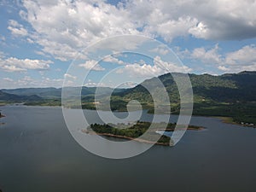
POLYGON ((32 70, 47 70, 52 61, 17 59, 15 57, 0 58, 0 67, 7 72, 25 72, 32 70))

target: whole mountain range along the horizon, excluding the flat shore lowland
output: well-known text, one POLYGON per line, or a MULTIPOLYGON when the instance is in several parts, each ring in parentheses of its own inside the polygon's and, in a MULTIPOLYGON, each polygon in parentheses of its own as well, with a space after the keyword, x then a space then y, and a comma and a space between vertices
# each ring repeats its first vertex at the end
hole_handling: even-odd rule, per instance
MULTIPOLYGON (((183 73, 172 73, 177 76, 184 75, 183 73)), ((158 77, 166 87, 170 95, 171 102, 179 102, 179 94, 177 84, 172 78, 171 73, 167 73, 158 77)), ((189 74, 194 93, 195 102, 212 101, 212 102, 255 102, 256 101, 256 72, 241 72, 233 74, 224 74, 213 76, 210 74, 189 74)), ((120 99, 129 101, 137 99, 141 102, 153 102, 148 90, 143 87, 143 84, 154 85, 156 78, 147 79, 142 84, 138 84, 131 89, 115 89, 101 87, 100 95, 104 96, 113 92, 114 96, 119 96, 120 99)), ((79 87, 68 87, 67 90, 70 96, 74 96, 79 87)), ((155 89, 157 91, 157 89, 155 89)), ((4 93, 10 94, 2 96, 3 100, 13 98, 33 98, 39 99, 61 99, 61 88, 20 88, 20 89, 3 89, 4 93), (19 97, 21 96, 21 97, 19 97), (29 97, 27 97, 29 96, 29 97)), ((83 87, 81 94, 82 98, 92 98, 96 92, 96 87, 83 87)))

